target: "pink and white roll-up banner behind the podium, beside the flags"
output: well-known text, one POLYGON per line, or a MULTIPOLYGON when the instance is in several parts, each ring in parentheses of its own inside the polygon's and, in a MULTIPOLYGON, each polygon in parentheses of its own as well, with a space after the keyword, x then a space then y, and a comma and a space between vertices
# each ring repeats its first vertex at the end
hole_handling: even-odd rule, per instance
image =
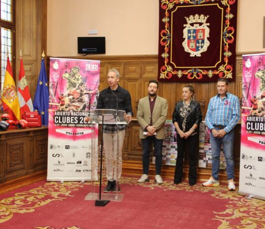
POLYGON ((48 181, 91 180, 98 126, 85 117, 97 105, 99 68, 98 60, 50 59, 48 181))

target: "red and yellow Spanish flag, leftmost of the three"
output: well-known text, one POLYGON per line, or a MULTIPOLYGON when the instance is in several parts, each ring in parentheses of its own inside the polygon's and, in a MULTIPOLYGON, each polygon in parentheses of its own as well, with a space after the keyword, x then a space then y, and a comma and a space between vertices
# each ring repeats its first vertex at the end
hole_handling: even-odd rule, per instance
POLYGON ((15 81, 13 78, 9 57, 7 57, 7 64, 5 69, 5 76, 4 76, 3 90, 2 90, 2 102, 3 102, 3 111, 12 115, 14 121, 18 121, 21 119, 19 101, 17 97, 15 81))

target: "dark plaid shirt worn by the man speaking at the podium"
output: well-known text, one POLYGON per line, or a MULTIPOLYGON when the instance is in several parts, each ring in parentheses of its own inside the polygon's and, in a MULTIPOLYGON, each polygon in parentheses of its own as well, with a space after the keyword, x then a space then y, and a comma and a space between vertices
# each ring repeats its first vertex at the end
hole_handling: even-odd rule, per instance
MULTIPOLYGON (((108 87, 99 93, 97 109, 119 109, 133 116, 131 95, 119 85, 115 91, 108 87)), ((126 126, 126 124, 103 124, 103 132, 117 133, 118 130, 124 130, 126 126)))

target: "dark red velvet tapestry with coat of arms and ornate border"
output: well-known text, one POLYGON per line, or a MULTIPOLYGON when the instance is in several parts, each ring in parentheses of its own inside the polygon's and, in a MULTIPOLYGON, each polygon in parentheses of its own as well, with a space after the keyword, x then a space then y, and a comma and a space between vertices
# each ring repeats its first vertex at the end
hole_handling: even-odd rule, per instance
POLYGON ((159 0, 158 80, 235 79, 237 0, 159 0))

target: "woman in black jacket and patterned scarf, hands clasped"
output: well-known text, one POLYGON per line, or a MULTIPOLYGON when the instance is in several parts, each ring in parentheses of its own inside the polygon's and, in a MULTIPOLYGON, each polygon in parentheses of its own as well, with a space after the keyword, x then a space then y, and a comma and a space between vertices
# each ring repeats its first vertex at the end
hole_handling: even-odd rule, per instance
POLYGON ((176 103, 173 112, 173 123, 177 130, 178 157, 175 168, 174 183, 182 181, 184 151, 188 146, 189 153, 189 184, 197 182, 196 144, 198 144, 199 123, 202 119, 200 105, 194 101, 195 90, 192 85, 182 89, 183 101, 176 103))

